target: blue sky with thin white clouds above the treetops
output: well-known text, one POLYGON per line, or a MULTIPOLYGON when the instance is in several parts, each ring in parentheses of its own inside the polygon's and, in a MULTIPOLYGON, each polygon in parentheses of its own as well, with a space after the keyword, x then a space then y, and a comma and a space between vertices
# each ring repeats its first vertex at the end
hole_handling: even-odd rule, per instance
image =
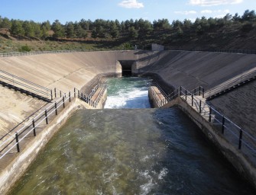
POLYGON ((51 23, 59 20, 80 21, 82 18, 126 21, 154 21, 167 18, 183 21, 206 16, 219 18, 230 13, 242 15, 256 10, 256 0, 0 0, 2 18, 51 23))

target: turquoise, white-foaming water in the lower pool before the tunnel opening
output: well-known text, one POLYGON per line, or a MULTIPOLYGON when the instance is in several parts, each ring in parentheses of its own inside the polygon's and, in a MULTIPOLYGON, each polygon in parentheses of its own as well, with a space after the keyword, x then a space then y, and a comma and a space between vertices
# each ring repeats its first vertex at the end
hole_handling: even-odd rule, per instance
POLYGON ((151 79, 139 77, 109 78, 108 98, 104 108, 147 108, 151 79))

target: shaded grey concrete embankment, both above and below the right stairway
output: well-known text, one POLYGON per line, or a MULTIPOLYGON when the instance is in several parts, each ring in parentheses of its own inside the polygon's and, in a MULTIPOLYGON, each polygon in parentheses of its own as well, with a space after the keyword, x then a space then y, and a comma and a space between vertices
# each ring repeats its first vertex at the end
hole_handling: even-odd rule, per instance
MULTIPOLYGON (((256 55, 239 53, 207 53, 162 51, 147 53, 136 62, 138 75, 155 73, 174 88, 193 90, 199 85, 206 91, 228 79, 239 77, 256 67, 256 55)), ((256 126, 254 95, 256 82, 239 87, 237 92, 210 101, 242 128, 254 133, 256 126)))

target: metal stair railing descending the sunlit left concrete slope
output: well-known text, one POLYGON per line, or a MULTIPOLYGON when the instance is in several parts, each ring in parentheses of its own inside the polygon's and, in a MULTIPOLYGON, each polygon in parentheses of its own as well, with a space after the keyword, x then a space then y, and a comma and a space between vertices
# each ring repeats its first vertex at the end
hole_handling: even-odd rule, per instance
POLYGON ((0 70, 0 82, 2 82, 2 85, 13 86, 15 89, 27 91, 28 93, 31 93, 32 95, 35 94, 43 99, 53 99, 53 91, 49 88, 44 88, 41 85, 37 85, 34 82, 30 82, 3 70, 0 70))

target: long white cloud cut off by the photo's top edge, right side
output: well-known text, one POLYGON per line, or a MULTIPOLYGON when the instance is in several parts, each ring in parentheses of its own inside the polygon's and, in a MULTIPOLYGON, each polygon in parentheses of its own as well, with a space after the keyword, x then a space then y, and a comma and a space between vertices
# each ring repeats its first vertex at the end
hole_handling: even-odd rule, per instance
POLYGON ((190 0, 190 5, 215 6, 215 5, 232 5, 242 3, 244 0, 190 0))

